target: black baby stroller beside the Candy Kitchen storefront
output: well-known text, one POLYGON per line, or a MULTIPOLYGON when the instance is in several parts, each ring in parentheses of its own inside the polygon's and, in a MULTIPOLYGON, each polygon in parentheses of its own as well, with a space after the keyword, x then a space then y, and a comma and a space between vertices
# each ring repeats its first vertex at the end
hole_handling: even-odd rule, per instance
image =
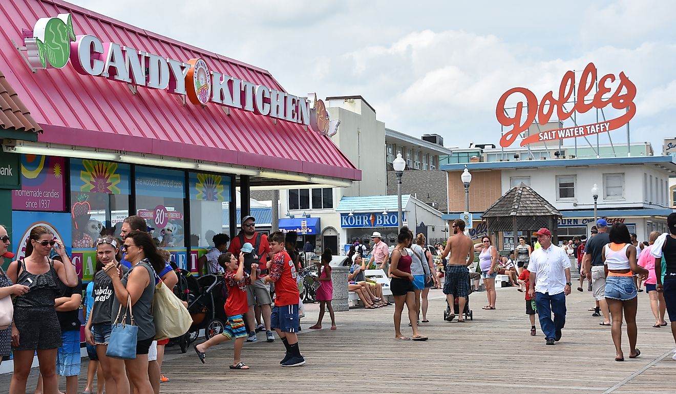
POLYGON ((204 329, 205 339, 211 339, 214 335, 222 333, 228 320, 224 310, 228 295, 222 277, 208 274, 195 278, 186 270, 179 270, 179 274, 178 297, 187 301, 188 312, 193 318, 193 324, 187 333, 189 343, 197 340, 201 329, 204 329))

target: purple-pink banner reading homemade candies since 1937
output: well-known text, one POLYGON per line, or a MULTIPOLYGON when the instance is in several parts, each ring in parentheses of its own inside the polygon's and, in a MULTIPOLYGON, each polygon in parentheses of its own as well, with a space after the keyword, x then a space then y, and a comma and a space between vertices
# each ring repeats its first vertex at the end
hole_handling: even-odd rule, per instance
POLYGON ((21 155, 21 189, 12 192, 12 210, 66 210, 64 157, 21 155))

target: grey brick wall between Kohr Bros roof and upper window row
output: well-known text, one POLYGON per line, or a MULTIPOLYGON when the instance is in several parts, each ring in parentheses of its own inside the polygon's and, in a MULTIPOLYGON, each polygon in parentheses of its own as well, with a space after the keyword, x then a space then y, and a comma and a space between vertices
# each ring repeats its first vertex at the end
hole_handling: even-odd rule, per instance
MULTIPOLYGON (((387 172, 387 194, 397 194, 397 176, 394 171, 387 172)), ((404 176, 402 176, 402 194, 416 195, 417 199, 434 207, 436 210, 448 212, 445 171, 404 171, 404 176)))

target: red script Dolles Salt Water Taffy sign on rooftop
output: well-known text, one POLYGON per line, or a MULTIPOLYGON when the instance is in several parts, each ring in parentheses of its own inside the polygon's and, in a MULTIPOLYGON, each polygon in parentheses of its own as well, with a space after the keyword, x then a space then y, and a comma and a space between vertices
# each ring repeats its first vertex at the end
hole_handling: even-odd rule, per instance
POLYGON ((612 105, 614 109, 625 109, 626 111, 621 116, 604 122, 548 130, 530 135, 521 141, 522 147, 530 143, 585 137, 615 130, 629 123, 629 120, 636 114, 636 104, 633 101, 636 97, 636 86, 627 78, 624 72, 621 72, 618 77, 613 74, 606 74, 601 78, 597 78, 596 66, 593 63, 587 64, 580 78, 575 105, 569 106, 566 109, 564 105, 573 97, 574 90, 575 73, 568 71, 561 80, 556 97, 554 91, 550 91, 538 101, 535 94, 526 88, 516 87, 506 91, 500 97, 500 100, 498 100, 496 117, 502 126, 512 128, 504 133, 502 139, 500 139, 500 145, 502 147, 512 145, 518 138, 518 135, 527 130, 535 122, 536 118, 539 124, 546 124, 556 114, 558 120, 564 121, 570 118, 573 112, 582 114, 594 108, 603 109, 608 105, 612 105), (608 84, 616 80, 618 83, 614 90, 608 87, 608 84), (598 92, 590 100, 587 96, 592 93, 597 81, 598 92), (516 95, 523 95, 525 100, 522 99, 516 103, 516 109, 512 117, 507 114, 505 106, 507 101, 514 101, 516 95), (608 95, 610 96, 608 97, 608 95), (526 107, 525 116, 524 107, 526 107))

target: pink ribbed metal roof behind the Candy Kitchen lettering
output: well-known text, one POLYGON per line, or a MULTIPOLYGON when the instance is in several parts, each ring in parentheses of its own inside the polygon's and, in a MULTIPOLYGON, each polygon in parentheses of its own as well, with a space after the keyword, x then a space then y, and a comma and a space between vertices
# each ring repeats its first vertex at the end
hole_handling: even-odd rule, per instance
MULTIPOLYGON (((301 124, 210 103, 186 103, 167 91, 80 75, 70 65, 31 72, 11 40, 39 18, 72 14, 75 34, 187 61, 205 59, 214 71, 284 91, 266 70, 179 43, 60 0, 0 2, 0 70, 44 132, 39 141, 152 153, 360 180, 361 171, 329 137, 301 124)), ((293 94, 293 93, 291 93, 293 94)))

